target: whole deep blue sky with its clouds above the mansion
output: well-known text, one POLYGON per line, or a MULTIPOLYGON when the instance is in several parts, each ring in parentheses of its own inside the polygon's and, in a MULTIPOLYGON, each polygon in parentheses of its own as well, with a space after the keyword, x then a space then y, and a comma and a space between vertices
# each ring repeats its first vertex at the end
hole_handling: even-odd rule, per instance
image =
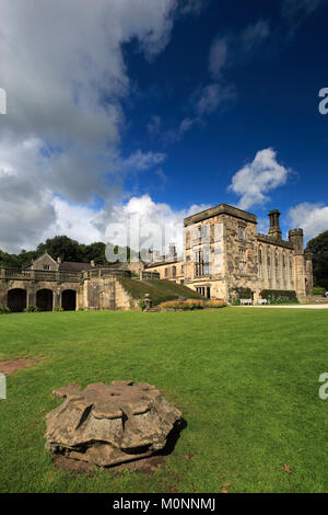
POLYGON ((4 0, 0 248, 220 203, 328 229, 326 0, 36 3, 4 0))

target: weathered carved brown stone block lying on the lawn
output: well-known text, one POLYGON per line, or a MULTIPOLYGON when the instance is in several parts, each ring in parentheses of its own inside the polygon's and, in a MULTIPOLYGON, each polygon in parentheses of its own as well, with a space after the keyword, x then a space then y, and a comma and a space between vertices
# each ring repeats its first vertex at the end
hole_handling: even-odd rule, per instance
POLYGON ((47 414, 46 448, 112 466, 163 449, 181 413, 154 386, 132 381, 77 384, 52 392, 66 401, 47 414))

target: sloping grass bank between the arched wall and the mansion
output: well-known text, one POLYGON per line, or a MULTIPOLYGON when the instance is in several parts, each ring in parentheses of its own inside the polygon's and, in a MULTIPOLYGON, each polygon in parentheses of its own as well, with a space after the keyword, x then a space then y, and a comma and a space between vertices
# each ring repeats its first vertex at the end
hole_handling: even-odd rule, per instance
POLYGON ((203 297, 197 291, 194 291, 187 286, 176 284, 173 281, 139 281, 121 277, 119 278, 119 282, 133 299, 142 299, 144 294, 149 294, 153 301, 153 306, 157 306, 166 300, 175 300, 179 297, 185 299, 203 299, 203 297))

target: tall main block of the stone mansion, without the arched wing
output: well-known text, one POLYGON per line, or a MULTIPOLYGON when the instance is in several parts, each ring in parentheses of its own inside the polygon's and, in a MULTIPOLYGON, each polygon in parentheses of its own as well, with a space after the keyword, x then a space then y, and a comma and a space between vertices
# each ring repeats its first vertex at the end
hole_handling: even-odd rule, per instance
POLYGON ((250 288, 257 302, 263 289, 295 290, 300 301, 313 293, 312 255, 304 251, 303 230, 282 239, 280 213, 269 213, 268 234, 257 232, 251 213, 220 204, 184 220, 185 255, 152 263, 148 270, 212 299, 231 298, 233 288, 250 288))

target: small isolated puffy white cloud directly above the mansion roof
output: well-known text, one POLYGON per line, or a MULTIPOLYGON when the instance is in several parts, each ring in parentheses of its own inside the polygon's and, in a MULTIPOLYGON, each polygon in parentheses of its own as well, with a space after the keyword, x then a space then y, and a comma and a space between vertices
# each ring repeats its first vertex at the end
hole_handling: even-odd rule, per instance
POLYGON ((267 148, 234 174, 229 191, 241 196, 238 207, 248 209, 269 201, 268 193, 285 184, 289 173, 290 170, 278 162, 277 152, 267 148))

